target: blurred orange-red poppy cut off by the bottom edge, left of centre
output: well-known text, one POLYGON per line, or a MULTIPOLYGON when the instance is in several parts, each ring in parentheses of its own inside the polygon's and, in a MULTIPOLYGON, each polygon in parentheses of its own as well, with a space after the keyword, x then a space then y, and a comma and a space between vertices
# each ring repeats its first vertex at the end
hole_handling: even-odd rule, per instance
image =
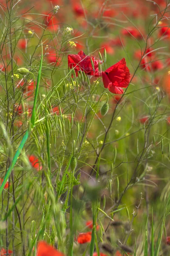
POLYGON ((45 241, 39 241, 37 256, 64 256, 64 254, 54 249, 51 245, 48 245, 45 241))

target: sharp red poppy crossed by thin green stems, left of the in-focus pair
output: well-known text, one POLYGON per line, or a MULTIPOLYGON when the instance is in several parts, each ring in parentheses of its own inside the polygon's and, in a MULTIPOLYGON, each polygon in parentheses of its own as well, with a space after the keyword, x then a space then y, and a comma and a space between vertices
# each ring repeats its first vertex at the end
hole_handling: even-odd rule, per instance
POLYGON ((78 52, 78 54, 68 55, 68 67, 74 68, 76 75, 78 76, 78 71, 82 70, 85 74, 90 76, 99 76, 99 61, 96 61, 94 57, 85 55, 83 51, 78 52), (91 60, 94 63, 94 70, 91 64, 91 60))

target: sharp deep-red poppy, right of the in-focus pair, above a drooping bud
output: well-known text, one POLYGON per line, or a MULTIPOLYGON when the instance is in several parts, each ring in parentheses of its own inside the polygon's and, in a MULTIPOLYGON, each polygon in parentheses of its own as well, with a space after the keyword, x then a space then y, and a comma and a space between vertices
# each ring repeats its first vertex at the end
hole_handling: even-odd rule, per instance
POLYGON ((126 88, 130 83, 130 72, 125 58, 102 72, 102 79, 105 88, 111 93, 122 94, 122 88, 126 88))

